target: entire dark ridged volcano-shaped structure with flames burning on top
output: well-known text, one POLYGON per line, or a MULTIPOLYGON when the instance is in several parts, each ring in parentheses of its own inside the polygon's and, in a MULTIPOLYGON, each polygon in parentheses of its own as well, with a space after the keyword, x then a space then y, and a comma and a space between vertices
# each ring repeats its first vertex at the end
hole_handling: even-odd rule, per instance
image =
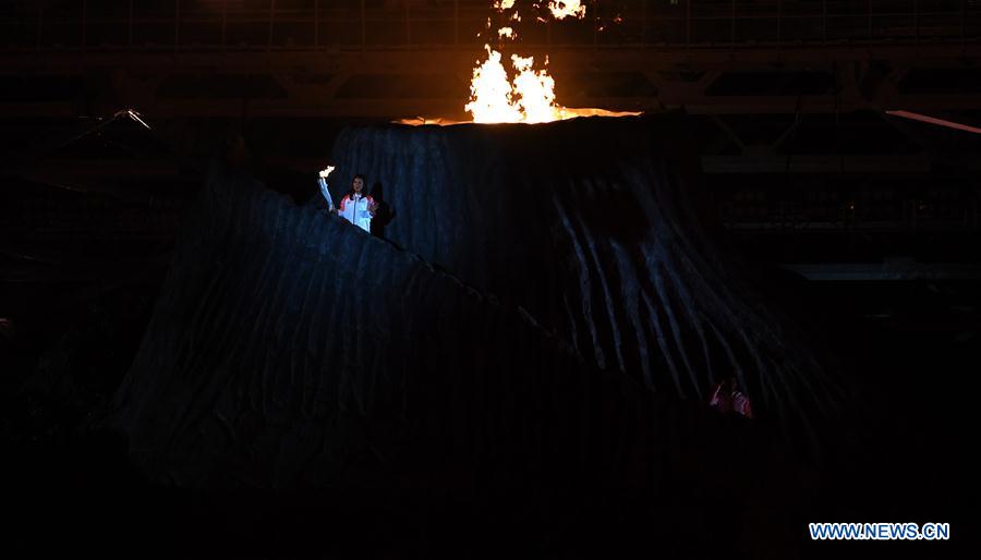
POLYGON ((657 486, 720 379, 813 424, 833 386, 699 226, 685 138, 351 129, 331 188, 367 175, 384 239, 216 167, 117 397, 134 456, 204 486, 657 486))

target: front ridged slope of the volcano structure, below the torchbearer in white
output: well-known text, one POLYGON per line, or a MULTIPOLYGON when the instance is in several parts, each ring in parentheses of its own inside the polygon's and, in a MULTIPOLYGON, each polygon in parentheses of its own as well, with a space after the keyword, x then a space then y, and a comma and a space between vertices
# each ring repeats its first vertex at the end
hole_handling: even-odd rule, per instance
POLYGON ((216 173, 117 403, 137 462, 181 485, 659 487, 693 475, 665 453, 679 426, 711 418, 653 399, 416 256, 216 173))

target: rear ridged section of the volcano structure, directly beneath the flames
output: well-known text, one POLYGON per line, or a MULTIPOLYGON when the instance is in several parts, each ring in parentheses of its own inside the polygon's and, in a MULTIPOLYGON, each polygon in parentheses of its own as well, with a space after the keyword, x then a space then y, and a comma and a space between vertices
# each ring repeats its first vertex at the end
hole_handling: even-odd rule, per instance
POLYGON ((384 186, 392 242, 521 306, 600 368, 707 399, 730 376, 764 414, 825 416, 822 366, 718 257, 692 210, 686 121, 344 131, 336 184, 384 186))

